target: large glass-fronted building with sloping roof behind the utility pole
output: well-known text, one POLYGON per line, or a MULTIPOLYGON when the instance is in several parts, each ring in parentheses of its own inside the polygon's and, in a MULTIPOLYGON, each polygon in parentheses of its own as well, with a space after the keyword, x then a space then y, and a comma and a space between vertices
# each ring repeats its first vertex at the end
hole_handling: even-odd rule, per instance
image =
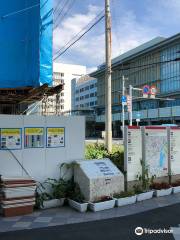
MULTIPOLYGON (((112 121, 113 136, 121 135, 121 101, 122 76, 128 78, 126 90, 131 84, 142 88, 144 85, 156 86, 160 99, 136 98, 133 101, 133 124, 137 115, 142 125, 180 123, 180 34, 170 38, 157 37, 134 48, 112 60, 112 121), (174 101, 165 98, 174 98, 174 101)), ((97 81, 97 117, 99 130, 104 130, 105 113, 105 64, 91 74, 97 81)), ((133 96, 142 93, 133 92, 133 96)), ((128 113, 125 114, 128 124, 128 113)))

